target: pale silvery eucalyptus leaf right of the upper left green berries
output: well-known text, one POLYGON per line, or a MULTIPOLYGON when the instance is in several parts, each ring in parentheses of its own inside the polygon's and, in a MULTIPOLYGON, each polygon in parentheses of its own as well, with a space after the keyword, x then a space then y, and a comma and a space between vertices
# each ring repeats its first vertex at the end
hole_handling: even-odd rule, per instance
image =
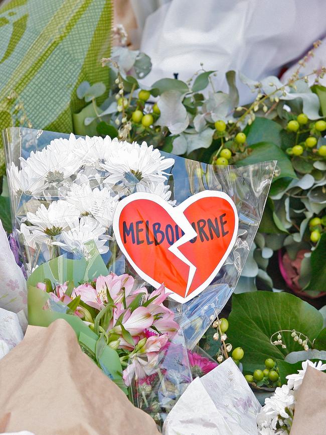
POLYGON ((160 116, 156 121, 159 126, 166 126, 174 135, 180 134, 189 125, 189 116, 182 103, 183 95, 177 90, 163 92, 157 102, 160 116))

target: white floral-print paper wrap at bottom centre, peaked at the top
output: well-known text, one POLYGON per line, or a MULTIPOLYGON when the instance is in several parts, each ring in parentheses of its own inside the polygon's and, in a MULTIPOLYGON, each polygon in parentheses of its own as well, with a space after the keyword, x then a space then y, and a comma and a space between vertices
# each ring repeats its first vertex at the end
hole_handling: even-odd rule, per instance
POLYGON ((256 435, 260 404, 228 358, 196 378, 168 415, 164 435, 256 435))

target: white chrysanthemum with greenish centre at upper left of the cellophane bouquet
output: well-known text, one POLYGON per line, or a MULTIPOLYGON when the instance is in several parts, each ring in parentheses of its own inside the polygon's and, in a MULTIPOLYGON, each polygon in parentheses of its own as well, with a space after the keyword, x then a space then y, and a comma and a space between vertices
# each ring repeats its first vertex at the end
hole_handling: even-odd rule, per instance
POLYGON ((21 159, 23 170, 32 170, 47 183, 58 183, 73 175, 80 167, 80 159, 72 152, 58 152, 51 148, 32 152, 27 160, 21 159))

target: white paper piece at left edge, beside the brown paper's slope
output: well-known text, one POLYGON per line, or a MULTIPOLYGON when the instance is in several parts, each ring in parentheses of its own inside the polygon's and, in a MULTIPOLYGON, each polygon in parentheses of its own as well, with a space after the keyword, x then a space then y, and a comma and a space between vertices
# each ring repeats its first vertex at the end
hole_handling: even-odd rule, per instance
POLYGON ((0 360, 23 340, 26 328, 24 311, 16 314, 0 308, 0 360))

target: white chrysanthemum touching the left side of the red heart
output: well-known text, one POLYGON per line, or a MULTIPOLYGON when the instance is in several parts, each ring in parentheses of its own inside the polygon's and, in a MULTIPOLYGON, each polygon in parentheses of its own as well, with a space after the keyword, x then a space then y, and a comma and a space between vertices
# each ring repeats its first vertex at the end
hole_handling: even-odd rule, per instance
POLYGON ((106 228, 112 225, 118 199, 117 195, 111 196, 106 187, 92 190, 89 184, 73 184, 67 195, 67 201, 78 208, 80 214, 92 215, 106 228))

